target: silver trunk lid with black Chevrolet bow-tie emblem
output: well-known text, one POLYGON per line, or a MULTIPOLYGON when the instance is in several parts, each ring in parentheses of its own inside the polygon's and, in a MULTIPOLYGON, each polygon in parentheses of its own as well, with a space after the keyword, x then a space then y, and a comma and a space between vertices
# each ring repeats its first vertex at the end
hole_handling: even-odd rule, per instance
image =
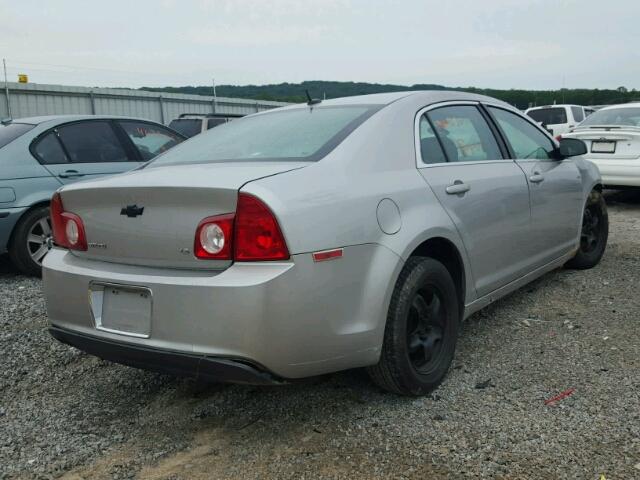
POLYGON ((205 217, 234 213, 246 183, 296 170, 303 162, 234 162, 144 168, 65 187, 62 202, 84 223, 88 250, 74 255, 128 265, 224 269, 200 260, 195 232, 205 217))

